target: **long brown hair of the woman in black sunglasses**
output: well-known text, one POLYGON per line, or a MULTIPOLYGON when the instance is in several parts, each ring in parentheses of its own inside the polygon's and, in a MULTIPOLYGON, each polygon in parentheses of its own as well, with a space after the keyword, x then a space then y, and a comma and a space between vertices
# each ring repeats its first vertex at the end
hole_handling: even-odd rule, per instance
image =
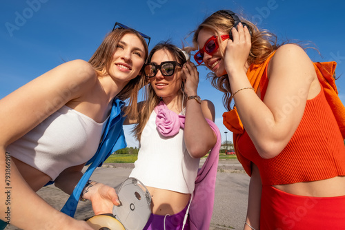
MULTIPOLYGON (((177 48, 177 46, 172 45, 169 43, 169 41, 159 43, 155 45, 154 48, 152 48, 150 54, 148 55, 148 60, 146 63, 150 63, 153 54, 157 52, 158 50, 166 50, 169 52, 172 56, 174 61, 177 61, 178 63, 181 63, 182 65, 186 63, 186 56, 182 53, 181 49, 177 48)), ((140 141, 141 133, 143 132, 143 129, 148 122, 148 118, 150 118, 150 115, 155 109, 155 107, 159 104, 159 101, 161 101, 161 98, 157 96, 155 93, 155 90, 153 90, 152 86, 149 84, 148 78, 146 79, 146 85, 144 87, 144 102, 141 103, 141 109, 139 112, 139 116, 137 118, 137 124, 133 128, 132 132, 135 134, 135 138, 140 141)), ((184 81, 181 83, 181 97, 184 95, 184 81)))

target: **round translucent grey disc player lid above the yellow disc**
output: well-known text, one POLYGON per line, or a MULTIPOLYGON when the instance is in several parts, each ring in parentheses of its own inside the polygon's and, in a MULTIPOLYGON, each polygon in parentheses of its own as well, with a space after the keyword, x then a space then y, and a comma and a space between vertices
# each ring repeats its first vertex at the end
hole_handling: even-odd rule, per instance
POLYGON ((121 204, 114 206, 112 214, 126 230, 141 230, 151 214, 151 196, 148 189, 137 178, 126 179, 117 196, 121 204))

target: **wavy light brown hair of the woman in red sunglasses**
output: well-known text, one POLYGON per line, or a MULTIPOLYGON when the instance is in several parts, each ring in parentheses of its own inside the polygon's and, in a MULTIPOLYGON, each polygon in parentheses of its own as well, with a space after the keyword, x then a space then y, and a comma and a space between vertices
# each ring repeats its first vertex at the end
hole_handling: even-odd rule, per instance
MULTIPOLYGON (((250 21, 241 19, 244 23, 248 25, 248 29, 251 30, 251 40, 252 46, 248 56, 248 64, 259 64, 264 62, 267 57, 277 50, 280 45, 277 44, 277 36, 266 30, 259 30, 256 25, 250 21)), ((199 32, 201 30, 210 30, 215 32, 218 36, 218 43, 221 44, 219 31, 225 32, 226 34, 230 33, 231 28, 233 28, 234 19, 229 14, 212 14, 210 17, 205 19, 195 30, 193 35, 193 45, 194 50, 197 50, 197 39, 199 32)), ((211 79, 211 85, 217 90, 224 92, 223 95, 223 105, 226 109, 230 110, 231 103, 231 90, 230 83, 228 81, 228 76, 224 75, 217 77, 213 72, 208 74, 208 78, 211 79)))

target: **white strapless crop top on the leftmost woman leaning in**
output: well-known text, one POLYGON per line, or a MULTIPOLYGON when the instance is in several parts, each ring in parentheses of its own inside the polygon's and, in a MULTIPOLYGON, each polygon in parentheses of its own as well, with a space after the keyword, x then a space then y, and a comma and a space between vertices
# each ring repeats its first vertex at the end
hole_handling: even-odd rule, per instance
POLYGON ((64 105, 6 151, 55 180, 68 167, 86 163, 96 153, 103 123, 64 105))

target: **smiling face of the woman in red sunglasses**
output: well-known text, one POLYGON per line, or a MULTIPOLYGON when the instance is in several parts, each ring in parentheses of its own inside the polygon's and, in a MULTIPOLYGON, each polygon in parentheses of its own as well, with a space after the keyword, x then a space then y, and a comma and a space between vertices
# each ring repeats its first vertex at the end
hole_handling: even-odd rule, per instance
MULTIPOLYGON (((224 35, 225 33, 219 32, 219 35, 224 35)), ((199 35, 197 36, 197 45, 199 49, 202 49, 212 36, 218 36, 215 32, 211 30, 200 30, 199 35)), ((216 52, 214 52, 212 55, 204 52, 204 63, 208 69, 212 70, 216 76, 223 76, 226 74, 225 66, 224 66, 224 59, 221 54, 224 54, 224 50, 226 48, 226 43, 228 42, 228 39, 221 41, 219 43, 219 48, 216 52)))

